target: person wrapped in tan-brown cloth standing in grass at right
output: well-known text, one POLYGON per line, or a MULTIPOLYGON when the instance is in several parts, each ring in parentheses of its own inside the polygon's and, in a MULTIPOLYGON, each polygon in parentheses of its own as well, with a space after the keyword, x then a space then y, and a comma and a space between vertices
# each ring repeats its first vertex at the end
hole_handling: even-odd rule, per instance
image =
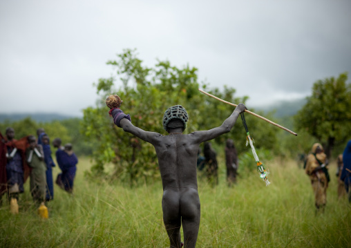
POLYGON ((314 200, 316 213, 321 209, 324 211, 327 203, 327 189, 330 181, 328 173, 328 160, 325 155, 323 146, 316 143, 312 146, 312 153, 307 156, 305 173, 310 176, 312 189, 314 191, 314 200))

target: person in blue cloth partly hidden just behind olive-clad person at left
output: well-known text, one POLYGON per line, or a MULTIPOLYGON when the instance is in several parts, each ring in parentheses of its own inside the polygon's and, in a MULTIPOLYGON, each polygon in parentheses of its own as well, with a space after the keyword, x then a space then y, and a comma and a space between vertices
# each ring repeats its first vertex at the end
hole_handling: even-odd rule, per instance
POLYGON ((45 200, 53 200, 54 199, 54 182, 53 182, 53 167, 55 167, 55 163, 53 157, 51 156, 50 149, 50 139, 48 135, 44 132, 43 128, 39 128, 37 130, 38 134, 38 144, 43 146, 44 151, 44 161, 46 164, 46 196, 45 200))

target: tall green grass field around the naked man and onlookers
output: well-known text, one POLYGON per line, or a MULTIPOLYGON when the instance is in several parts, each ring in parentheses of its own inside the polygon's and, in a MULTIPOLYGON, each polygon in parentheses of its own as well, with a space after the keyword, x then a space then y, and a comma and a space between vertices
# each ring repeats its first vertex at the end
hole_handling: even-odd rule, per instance
MULTIPOLYGON (((266 162, 268 187, 252 171, 235 187, 210 187, 199 177, 201 223, 197 247, 351 247, 350 204, 336 195, 335 164, 323 214, 315 216, 310 180, 296 162, 266 162)), ((114 182, 88 182, 90 162, 81 158, 75 194, 55 187, 50 218, 41 220, 26 192, 20 213, 0 208, 0 247, 169 247, 162 222, 162 184, 130 189, 114 182)), ((54 170, 56 176, 59 169, 54 170)))

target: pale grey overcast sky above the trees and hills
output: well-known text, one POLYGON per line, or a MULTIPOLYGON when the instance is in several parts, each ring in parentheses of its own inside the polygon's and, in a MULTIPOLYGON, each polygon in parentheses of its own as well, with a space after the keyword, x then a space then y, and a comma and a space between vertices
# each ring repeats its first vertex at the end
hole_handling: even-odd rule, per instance
POLYGON ((248 108, 304 97, 351 73, 350 12, 350 0, 0 0, 0 113, 82 116, 124 48, 145 66, 195 66, 248 108))

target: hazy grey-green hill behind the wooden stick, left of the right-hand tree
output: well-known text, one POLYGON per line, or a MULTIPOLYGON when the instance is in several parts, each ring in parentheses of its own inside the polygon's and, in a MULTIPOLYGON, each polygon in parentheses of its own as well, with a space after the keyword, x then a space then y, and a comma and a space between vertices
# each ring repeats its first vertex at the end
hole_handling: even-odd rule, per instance
POLYGON ((275 111, 274 116, 280 118, 295 115, 306 102, 307 100, 305 98, 292 101, 278 101, 267 106, 256 107, 256 109, 265 111, 266 113, 275 111))

